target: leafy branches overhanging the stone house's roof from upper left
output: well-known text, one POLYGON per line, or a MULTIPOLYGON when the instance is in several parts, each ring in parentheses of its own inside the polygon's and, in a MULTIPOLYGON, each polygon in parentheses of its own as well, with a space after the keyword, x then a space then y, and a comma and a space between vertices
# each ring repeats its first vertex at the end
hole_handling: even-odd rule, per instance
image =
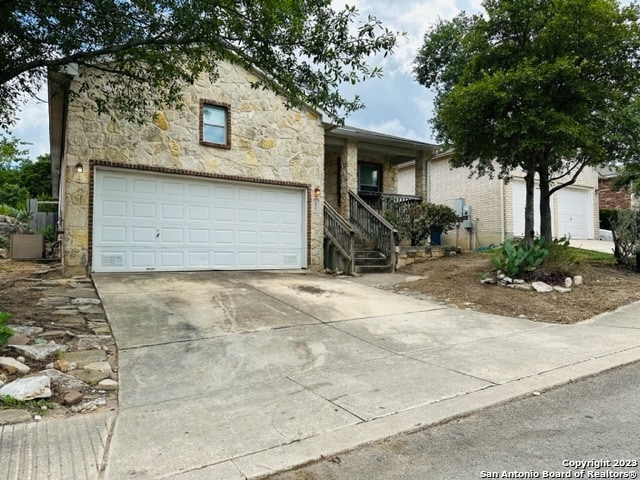
POLYGON ((221 60, 263 72, 256 86, 284 92, 290 105, 340 119, 362 104, 339 85, 379 76, 369 57, 396 42, 376 18, 357 23, 355 8, 335 11, 331 0, 5 0, 0 17, 4 128, 47 69, 77 64, 102 74, 105 83, 91 91, 98 111, 139 120, 179 106, 185 82, 215 78, 221 60))

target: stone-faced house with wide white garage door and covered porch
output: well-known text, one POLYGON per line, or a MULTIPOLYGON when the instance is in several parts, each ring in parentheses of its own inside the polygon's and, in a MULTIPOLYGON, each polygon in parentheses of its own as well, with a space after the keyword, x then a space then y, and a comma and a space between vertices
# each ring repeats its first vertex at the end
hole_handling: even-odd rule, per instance
POLYGON ((395 166, 415 163, 423 195, 435 146, 288 109, 228 63, 189 87, 184 109, 141 125, 67 102, 74 75, 50 75, 65 274, 321 270, 326 252, 352 269, 356 236, 393 268, 393 227, 376 208, 419 200, 393 195, 395 166))

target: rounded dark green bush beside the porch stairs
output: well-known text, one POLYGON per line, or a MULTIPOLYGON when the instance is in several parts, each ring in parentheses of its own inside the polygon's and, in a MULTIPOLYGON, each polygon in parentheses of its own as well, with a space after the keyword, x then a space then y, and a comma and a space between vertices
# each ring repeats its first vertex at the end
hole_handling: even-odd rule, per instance
POLYGON ((401 210, 385 209, 383 216, 396 227, 400 237, 411 240, 411 245, 419 245, 434 230, 446 233, 459 221, 451 207, 434 203, 415 203, 401 210))

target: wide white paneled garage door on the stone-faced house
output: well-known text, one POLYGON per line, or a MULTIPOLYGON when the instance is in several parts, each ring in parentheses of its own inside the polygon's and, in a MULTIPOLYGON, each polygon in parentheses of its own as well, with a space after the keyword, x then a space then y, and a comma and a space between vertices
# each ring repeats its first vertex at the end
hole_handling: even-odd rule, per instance
POLYGON ((305 267, 301 189, 96 170, 95 272, 305 267))

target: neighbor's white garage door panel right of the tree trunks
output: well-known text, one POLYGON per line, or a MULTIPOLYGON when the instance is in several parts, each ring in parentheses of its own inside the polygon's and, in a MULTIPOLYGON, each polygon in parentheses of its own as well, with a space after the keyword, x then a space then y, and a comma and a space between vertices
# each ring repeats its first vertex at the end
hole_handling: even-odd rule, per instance
POLYGON ((577 188, 562 188, 558 196, 558 236, 593 238, 593 204, 590 192, 577 188))

